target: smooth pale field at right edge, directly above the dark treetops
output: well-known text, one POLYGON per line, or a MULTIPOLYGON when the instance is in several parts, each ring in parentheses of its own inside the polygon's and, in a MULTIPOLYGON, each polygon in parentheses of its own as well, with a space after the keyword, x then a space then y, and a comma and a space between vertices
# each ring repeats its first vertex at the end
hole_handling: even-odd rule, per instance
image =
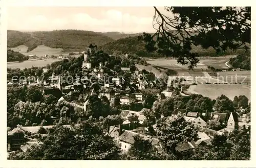
POLYGON ((250 101, 250 85, 239 84, 202 84, 191 85, 188 92, 194 94, 202 94, 210 99, 217 99, 221 94, 226 95, 230 100, 233 100, 237 95, 245 95, 250 101))

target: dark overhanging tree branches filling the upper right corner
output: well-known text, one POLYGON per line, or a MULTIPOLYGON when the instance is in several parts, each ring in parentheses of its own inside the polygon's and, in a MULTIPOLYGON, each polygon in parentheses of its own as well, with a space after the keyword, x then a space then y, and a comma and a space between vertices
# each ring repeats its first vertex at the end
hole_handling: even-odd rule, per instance
POLYGON ((191 47, 213 47, 217 53, 227 49, 248 49, 250 44, 250 7, 165 7, 169 15, 156 7, 154 35, 139 36, 146 42, 145 48, 166 56, 176 57, 178 63, 193 68, 198 62, 198 53, 191 47))

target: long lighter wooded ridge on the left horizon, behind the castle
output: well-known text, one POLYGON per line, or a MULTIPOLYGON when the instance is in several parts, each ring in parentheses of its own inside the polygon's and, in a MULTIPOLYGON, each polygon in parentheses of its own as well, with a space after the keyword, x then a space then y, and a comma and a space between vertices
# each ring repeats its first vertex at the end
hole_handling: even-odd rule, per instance
POLYGON ((37 45, 46 45, 52 48, 62 48, 64 51, 83 50, 91 43, 103 45, 114 41, 113 38, 91 31, 81 30, 56 30, 56 31, 37 31, 19 32, 7 31, 8 47, 18 45, 28 46, 28 51, 36 48, 37 45))

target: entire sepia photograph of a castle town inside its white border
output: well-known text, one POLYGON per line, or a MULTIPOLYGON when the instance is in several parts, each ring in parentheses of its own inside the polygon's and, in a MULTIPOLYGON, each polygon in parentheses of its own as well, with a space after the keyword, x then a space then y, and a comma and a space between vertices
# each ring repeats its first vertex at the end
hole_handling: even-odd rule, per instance
POLYGON ((8 160, 251 159, 251 7, 6 12, 8 160))

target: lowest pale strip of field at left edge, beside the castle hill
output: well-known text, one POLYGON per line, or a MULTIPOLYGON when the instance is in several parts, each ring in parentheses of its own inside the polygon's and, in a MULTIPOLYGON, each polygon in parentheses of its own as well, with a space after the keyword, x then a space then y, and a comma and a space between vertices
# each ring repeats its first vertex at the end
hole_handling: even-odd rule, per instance
POLYGON ((59 59, 47 59, 47 60, 29 60, 29 61, 24 61, 24 62, 8 62, 7 67, 8 68, 20 68, 20 69, 25 69, 25 68, 31 68, 32 66, 46 66, 47 64, 50 64, 55 62, 55 61, 60 61, 59 59))

